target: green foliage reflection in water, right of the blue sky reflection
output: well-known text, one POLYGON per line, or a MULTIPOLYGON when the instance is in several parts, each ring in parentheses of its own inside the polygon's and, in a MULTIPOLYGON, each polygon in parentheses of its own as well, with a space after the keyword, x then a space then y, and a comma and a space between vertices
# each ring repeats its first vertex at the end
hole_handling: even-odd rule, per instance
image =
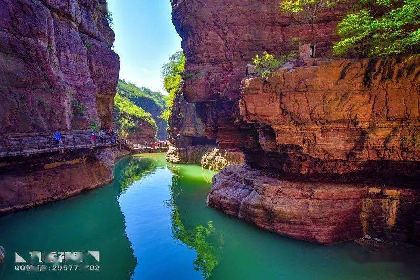
MULTIPOLYGON (((196 183, 211 182, 214 171, 201 169, 201 173, 182 173, 183 166, 168 165, 174 176, 172 177, 172 234, 175 239, 185 243, 188 248, 197 252, 194 269, 201 271, 204 278, 211 275, 211 271, 219 263, 222 255, 223 234, 217 232, 212 221, 195 220, 194 208, 185 207, 188 203, 197 201, 196 183), (182 175, 181 175, 182 173, 182 175), (196 180, 194 180, 194 178, 196 180), (180 214, 181 213, 181 214, 180 214)), ((199 200, 201 204, 203 201, 199 200)), ((204 204, 205 205, 205 204, 204 204)))

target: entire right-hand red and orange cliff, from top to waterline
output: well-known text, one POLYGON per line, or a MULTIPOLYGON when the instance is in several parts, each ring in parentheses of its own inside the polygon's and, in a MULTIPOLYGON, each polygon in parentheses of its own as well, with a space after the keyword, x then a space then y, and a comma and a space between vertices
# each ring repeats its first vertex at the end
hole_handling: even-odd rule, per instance
POLYGON ((171 136, 245 158, 213 178, 209 206, 317 243, 419 242, 418 56, 334 58, 350 3, 317 18, 317 58, 246 76, 255 55, 310 43, 310 23, 280 13, 277 1, 171 4, 191 74, 177 97, 187 121, 170 122, 171 136))

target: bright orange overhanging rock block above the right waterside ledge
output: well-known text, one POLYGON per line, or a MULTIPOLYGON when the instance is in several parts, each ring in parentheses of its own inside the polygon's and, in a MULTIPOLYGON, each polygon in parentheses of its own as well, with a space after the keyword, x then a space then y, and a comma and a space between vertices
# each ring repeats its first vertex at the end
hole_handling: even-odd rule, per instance
POLYGON ((244 79, 241 117, 258 124, 247 163, 287 173, 418 178, 419 62, 309 59, 286 63, 267 80, 244 79))

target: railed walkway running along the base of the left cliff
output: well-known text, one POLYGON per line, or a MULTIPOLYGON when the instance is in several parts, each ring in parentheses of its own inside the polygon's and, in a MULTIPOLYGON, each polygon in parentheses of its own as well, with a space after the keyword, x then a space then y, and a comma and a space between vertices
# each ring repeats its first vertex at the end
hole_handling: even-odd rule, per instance
POLYGON ((0 139, 0 157, 40 154, 80 148, 114 146, 118 143, 118 134, 89 134, 62 135, 60 141, 48 137, 26 137, 0 139))

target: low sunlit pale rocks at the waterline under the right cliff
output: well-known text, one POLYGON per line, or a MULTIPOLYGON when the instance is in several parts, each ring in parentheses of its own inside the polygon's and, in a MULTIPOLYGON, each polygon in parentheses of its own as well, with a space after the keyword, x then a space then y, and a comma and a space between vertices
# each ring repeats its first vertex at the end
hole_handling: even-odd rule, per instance
POLYGON ((196 163, 203 168, 220 171, 224 167, 244 163, 243 153, 238 149, 221 149, 215 146, 169 147, 166 160, 170 163, 196 163))

